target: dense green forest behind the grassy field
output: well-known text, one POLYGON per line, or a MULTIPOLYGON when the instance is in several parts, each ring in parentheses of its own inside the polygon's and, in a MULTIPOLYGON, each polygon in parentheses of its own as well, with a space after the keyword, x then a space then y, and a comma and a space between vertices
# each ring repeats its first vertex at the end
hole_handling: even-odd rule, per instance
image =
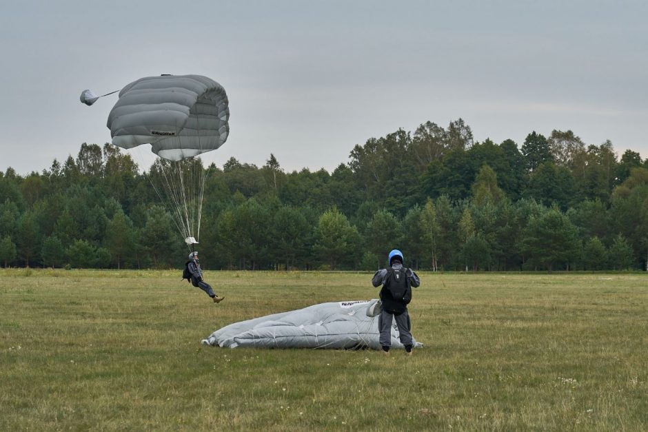
MULTIPOLYGON (((207 269, 363 269, 397 247, 418 269, 645 269, 648 159, 571 131, 476 142, 461 119, 356 145, 333 172, 211 165, 207 269)), ((179 268, 188 247, 148 172, 109 144, 0 172, 0 265, 179 268)))

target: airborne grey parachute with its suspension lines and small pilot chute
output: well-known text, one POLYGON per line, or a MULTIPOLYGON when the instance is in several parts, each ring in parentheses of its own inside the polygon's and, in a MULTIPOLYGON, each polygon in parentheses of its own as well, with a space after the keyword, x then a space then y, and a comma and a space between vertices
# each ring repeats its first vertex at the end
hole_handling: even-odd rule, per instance
MULTIPOLYGON (((84 90, 80 99, 92 105, 103 96, 84 90)), ((108 115, 114 145, 130 149, 150 144, 152 152, 163 158, 156 161, 150 174, 160 178, 156 192, 170 207, 189 245, 199 238, 207 178, 202 163, 192 158, 225 143, 229 118, 225 89, 201 75, 138 79, 119 92, 119 101, 108 115)), ((152 184, 156 186, 156 182, 152 184)))

